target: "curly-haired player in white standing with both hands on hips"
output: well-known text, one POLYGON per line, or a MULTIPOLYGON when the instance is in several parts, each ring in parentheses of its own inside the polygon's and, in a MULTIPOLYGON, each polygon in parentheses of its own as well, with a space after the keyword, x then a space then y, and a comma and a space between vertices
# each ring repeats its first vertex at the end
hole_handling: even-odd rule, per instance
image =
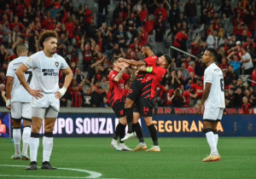
POLYGON ((50 154, 53 148, 53 129, 55 120, 60 111, 60 99, 65 94, 68 85, 73 78, 73 72, 67 62, 55 54, 57 48, 57 33, 44 31, 38 39, 39 45, 44 47, 31 55, 16 70, 20 83, 27 92, 32 95, 32 133, 29 141, 31 163, 26 170, 37 170, 37 157, 39 146, 39 131, 44 118, 43 138, 43 164, 41 169, 55 170, 49 164, 50 154), (24 72, 32 69, 34 90, 29 87, 24 77, 24 72), (66 74, 64 85, 59 89, 59 72, 66 74))

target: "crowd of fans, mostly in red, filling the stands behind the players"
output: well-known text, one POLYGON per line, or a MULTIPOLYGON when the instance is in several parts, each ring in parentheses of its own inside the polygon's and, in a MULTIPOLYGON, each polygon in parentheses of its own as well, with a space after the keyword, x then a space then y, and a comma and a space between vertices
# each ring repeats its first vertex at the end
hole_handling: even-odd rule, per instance
MULTIPOLYGON (((172 50, 172 64, 156 91, 159 107, 199 107, 206 68, 201 55, 213 47, 224 72, 226 107, 253 113, 256 85, 247 79, 256 81, 256 2, 212 2, 95 0, 98 9, 93 11, 88 4, 76 8, 71 0, 0 0, 0 106, 5 107, 5 74, 17 44, 26 43, 32 55, 41 50, 40 32, 55 30, 58 54, 74 73, 61 107, 109 107, 111 59, 143 60, 140 50, 148 43, 158 56, 168 53, 170 45, 194 55, 172 50)), ((64 78, 61 73, 60 86, 64 78)))

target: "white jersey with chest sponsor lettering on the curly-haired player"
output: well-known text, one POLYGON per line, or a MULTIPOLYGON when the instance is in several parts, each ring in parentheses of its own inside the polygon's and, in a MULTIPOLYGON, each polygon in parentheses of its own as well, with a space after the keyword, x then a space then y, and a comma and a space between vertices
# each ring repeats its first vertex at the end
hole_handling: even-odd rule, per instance
POLYGON ((43 90, 44 93, 55 93, 59 90, 60 69, 67 68, 67 62, 61 55, 55 54, 49 58, 42 50, 28 57, 24 64, 32 68, 34 90, 43 90))

